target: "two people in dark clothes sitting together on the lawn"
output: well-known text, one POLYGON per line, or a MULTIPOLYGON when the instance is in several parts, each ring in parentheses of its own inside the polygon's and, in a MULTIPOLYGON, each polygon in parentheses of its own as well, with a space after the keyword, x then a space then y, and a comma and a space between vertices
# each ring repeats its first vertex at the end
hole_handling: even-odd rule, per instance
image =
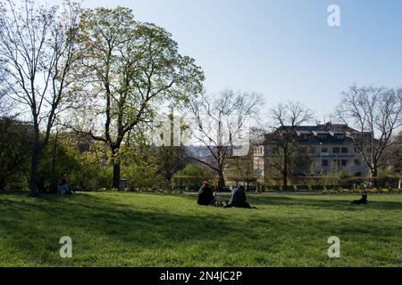
POLYGON ((234 187, 230 194, 230 199, 223 205, 222 198, 217 196, 211 189, 209 183, 204 181, 200 190, 198 191, 198 205, 202 206, 216 206, 223 208, 251 208, 247 203, 246 191, 242 186, 234 187))

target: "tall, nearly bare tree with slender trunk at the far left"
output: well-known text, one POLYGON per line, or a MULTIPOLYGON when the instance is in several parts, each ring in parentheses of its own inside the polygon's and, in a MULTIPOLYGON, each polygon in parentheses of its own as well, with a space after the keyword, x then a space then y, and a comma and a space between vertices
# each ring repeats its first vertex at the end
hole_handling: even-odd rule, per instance
POLYGON ((0 61, 10 96, 29 114, 34 131, 30 192, 38 194, 40 152, 46 147, 55 116, 71 95, 71 68, 79 57, 76 45, 80 6, 44 7, 24 0, 21 7, 0 4, 0 61), (43 131, 43 137, 40 133, 43 131))

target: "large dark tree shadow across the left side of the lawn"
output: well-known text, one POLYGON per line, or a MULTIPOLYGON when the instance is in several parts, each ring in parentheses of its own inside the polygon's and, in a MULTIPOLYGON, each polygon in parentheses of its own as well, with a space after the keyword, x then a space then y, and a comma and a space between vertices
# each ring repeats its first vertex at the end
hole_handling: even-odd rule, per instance
POLYGON ((180 243, 202 240, 225 240, 233 232, 239 232, 236 224, 212 216, 176 215, 163 209, 144 211, 95 196, 81 195, 79 201, 74 200, 76 198, 79 197, 54 195, 38 199, 38 202, 2 200, 0 232, 21 238, 22 242, 13 243, 13 247, 19 247, 27 255, 43 251, 39 248, 44 240, 51 243, 52 251, 57 253, 58 239, 77 231, 85 232, 86 238, 106 237, 116 242, 133 243, 141 250, 174 248, 180 243))

